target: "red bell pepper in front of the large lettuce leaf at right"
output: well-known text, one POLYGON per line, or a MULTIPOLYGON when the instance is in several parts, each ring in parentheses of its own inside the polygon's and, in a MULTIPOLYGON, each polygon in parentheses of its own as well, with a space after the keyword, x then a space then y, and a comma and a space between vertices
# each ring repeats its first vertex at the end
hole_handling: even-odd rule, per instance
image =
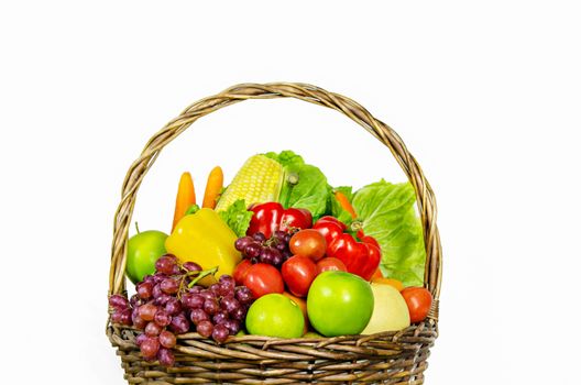
POLYGON ((360 230, 358 242, 353 235, 343 232, 344 223, 335 217, 322 217, 314 226, 327 241, 327 256, 341 260, 347 271, 370 280, 381 262, 381 249, 373 237, 364 235, 360 230))

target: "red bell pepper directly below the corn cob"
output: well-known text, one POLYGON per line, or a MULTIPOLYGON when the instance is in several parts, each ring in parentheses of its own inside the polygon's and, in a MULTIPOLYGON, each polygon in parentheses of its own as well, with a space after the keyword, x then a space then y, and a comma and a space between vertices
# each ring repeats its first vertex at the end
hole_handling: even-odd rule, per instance
POLYGON ((307 209, 285 209, 278 202, 266 202, 251 206, 250 210, 254 215, 250 220, 246 235, 262 232, 268 239, 277 230, 310 229, 313 226, 313 216, 307 209))

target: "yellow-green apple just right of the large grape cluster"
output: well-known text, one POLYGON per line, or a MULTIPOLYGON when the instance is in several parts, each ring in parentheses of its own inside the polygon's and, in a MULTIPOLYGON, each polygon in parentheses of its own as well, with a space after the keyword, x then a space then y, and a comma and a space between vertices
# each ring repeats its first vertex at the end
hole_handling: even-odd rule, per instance
POLYGON ((282 294, 260 297, 246 315, 246 330, 250 334, 299 338, 304 327, 303 311, 297 304, 282 294))

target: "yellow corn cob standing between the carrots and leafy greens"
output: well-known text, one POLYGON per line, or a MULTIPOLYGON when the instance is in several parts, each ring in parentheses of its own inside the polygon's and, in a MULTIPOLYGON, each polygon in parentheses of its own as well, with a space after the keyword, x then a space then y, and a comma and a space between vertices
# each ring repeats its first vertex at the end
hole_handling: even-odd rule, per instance
POLYGON ((276 201, 284 180, 283 166, 264 155, 251 156, 226 188, 216 210, 228 209, 238 199, 246 205, 276 201))

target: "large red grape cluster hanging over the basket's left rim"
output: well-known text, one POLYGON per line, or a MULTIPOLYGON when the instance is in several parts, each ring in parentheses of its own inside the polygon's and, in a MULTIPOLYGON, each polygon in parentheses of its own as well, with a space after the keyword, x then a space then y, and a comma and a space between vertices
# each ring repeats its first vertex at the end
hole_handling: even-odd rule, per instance
POLYGON ((229 275, 208 288, 196 285, 216 270, 202 272, 194 262, 180 265, 171 254, 157 260, 155 271, 136 285, 136 294, 129 300, 122 295, 109 297, 112 322, 143 330, 135 342, 145 360, 157 359, 162 365, 173 366, 171 349, 176 334, 190 329, 219 343, 240 330, 253 301, 248 287, 237 287, 229 275))

